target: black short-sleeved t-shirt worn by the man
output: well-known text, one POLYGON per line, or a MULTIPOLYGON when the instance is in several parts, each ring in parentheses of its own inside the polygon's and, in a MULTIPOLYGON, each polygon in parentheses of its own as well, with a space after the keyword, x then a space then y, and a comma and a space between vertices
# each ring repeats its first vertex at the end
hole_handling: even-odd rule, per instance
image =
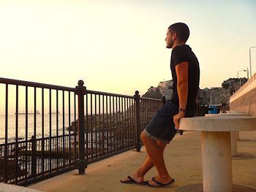
POLYGON ((189 47, 189 45, 181 45, 173 48, 170 58, 170 69, 173 76, 173 94, 170 101, 179 106, 177 92, 177 74, 175 67, 176 65, 181 64, 181 62, 184 61, 187 61, 189 63, 189 91, 187 96, 186 110, 195 110, 197 107, 196 99, 197 91, 199 89, 200 69, 197 57, 195 56, 195 53, 192 52, 192 49, 189 47))

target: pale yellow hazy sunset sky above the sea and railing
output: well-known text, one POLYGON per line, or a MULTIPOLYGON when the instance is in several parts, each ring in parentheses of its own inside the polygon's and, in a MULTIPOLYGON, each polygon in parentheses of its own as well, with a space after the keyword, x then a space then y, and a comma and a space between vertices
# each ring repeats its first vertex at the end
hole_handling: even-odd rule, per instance
POLYGON ((172 78, 165 37, 176 22, 189 26, 200 88, 246 77, 255 0, 0 0, 0 77, 143 95, 172 78))

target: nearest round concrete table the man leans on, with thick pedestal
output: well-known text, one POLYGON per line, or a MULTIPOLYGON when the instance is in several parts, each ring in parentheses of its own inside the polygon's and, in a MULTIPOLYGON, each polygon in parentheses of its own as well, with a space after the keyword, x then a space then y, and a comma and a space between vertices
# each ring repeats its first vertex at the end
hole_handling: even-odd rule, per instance
MULTIPOLYGON (((236 188, 244 192, 252 191, 252 188, 233 185, 230 131, 256 130, 256 118, 228 115, 182 118, 180 129, 201 131, 204 192, 232 192, 237 191, 236 188)), ((198 184, 195 191, 202 191, 200 186, 198 184)), ((177 191, 182 191, 182 188, 186 186, 177 191)))

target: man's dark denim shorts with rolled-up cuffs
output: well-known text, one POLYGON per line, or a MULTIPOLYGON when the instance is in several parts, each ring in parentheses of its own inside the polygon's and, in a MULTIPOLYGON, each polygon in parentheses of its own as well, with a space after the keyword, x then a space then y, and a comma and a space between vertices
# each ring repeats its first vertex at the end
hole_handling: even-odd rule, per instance
MULTIPOLYGON (((185 117, 189 118, 195 115, 196 110, 187 110, 185 117)), ((173 116, 178 113, 178 106, 171 101, 167 101, 162 109, 148 123, 144 132, 148 137, 154 140, 161 140, 164 143, 170 143, 176 134, 176 128, 173 123, 173 116)))

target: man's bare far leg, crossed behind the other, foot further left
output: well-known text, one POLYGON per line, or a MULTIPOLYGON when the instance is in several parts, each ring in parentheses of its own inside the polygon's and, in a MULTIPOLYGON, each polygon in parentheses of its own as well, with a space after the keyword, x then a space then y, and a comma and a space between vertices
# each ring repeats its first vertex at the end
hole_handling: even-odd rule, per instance
MULTIPOLYGON (((157 141, 157 145, 159 147, 159 150, 162 151, 162 153, 165 150, 166 144, 162 141, 157 141)), ((145 160, 143 161, 143 164, 140 166, 140 168, 133 174, 130 175, 132 179, 137 181, 138 183, 141 183, 144 181, 145 174, 154 166, 153 162, 151 161, 151 158, 146 155, 145 160)), ((129 180, 128 178, 125 180, 129 180)))

